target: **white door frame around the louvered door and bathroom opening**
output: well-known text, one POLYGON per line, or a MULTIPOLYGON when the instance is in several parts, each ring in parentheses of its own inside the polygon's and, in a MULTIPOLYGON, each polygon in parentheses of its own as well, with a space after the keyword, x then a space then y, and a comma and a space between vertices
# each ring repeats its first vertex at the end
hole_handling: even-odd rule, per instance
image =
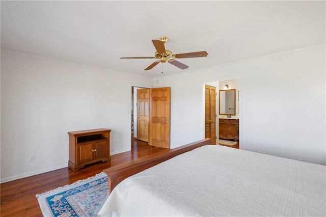
MULTIPOLYGON (((203 135, 205 135, 205 85, 210 85, 210 86, 215 86, 216 87, 216 93, 218 93, 220 91, 220 82, 224 82, 226 80, 235 80, 238 79, 239 80, 239 89, 236 93, 237 98, 238 98, 238 106, 239 106, 239 149, 243 149, 242 147, 242 78, 241 76, 234 76, 234 77, 224 77, 221 79, 216 79, 214 82, 205 82, 203 84, 203 92, 202 92, 202 96, 203 96, 203 100, 202 100, 202 123, 203 123, 203 135)), ((216 144, 219 144, 218 139, 220 136, 219 133, 219 94, 216 94, 216 144)))

